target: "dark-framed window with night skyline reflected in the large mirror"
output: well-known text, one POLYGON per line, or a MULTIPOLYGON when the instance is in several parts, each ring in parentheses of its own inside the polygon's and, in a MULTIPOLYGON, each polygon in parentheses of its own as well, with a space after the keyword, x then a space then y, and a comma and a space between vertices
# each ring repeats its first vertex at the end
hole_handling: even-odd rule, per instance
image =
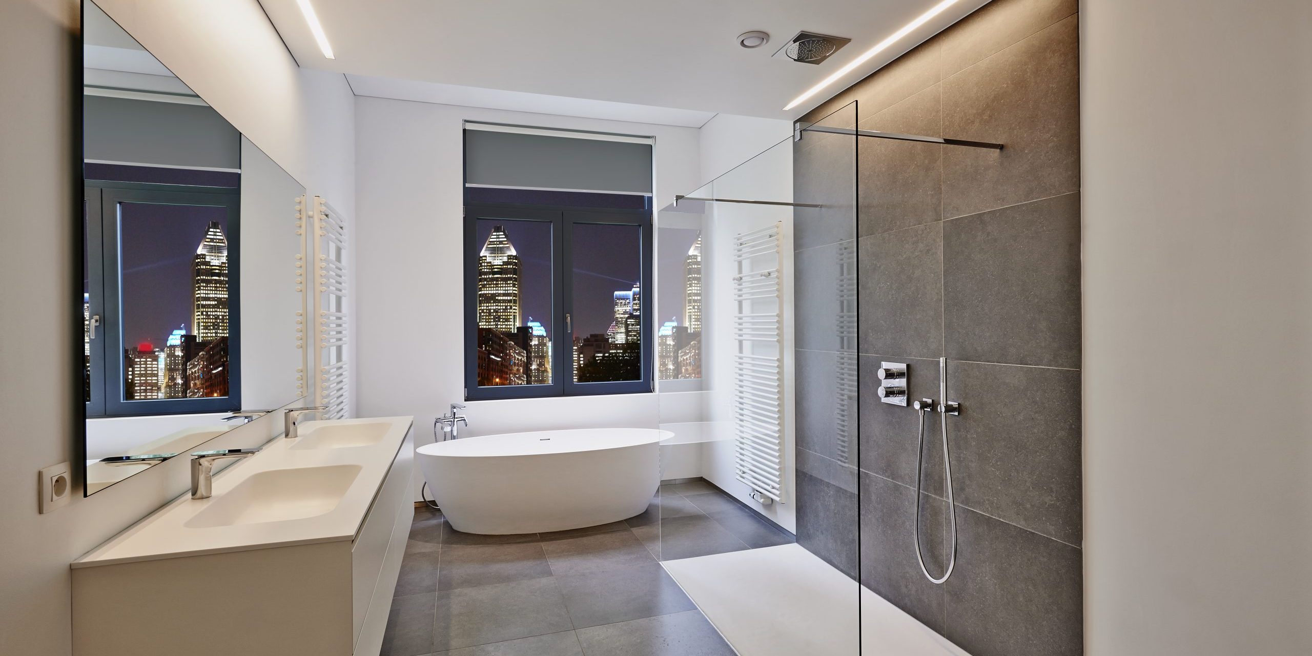
POLYGON ((207 181, 87 181, 88 417, 240 408, 240 195, 207 181))

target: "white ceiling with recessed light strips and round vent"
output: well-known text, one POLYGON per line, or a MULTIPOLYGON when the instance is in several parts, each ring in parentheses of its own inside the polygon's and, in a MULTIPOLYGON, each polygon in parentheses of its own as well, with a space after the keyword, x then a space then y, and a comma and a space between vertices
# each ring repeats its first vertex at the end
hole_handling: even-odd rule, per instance
MULTIPOLYGON (((789 101, 938 3, 311 1, 332 43, 333 60, 319 52, 297 0, 261 4, 300 66, 350 73, 353 84, 369 87, 367 92, 357 88, 357 93, 476 106, 489 106, 493 101, 488 98, 499 97, 518 105, 551 105, 529 96, 539 94, 558 97, 555 102, 586 98, 690 112, 652 121, 670 125, 705 122, 720 112, 795 118, 829 92, 786 113, 782 108, 789 101), (820 66, 770 56, 803 29, 853 41, 820 66), (740 47, 736 37, 748 30, 769 31, 770 42, 756 50, 740 47), (464 96, 475 101, 466 102, 464 96)), ((987 1, 958 1, 834 84, 833 91, 869 75, 987 1)))

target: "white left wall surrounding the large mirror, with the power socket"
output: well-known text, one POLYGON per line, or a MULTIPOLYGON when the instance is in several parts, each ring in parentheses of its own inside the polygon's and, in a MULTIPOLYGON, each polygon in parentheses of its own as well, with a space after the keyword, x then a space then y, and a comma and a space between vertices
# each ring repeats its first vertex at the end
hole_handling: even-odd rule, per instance
MULTIPOLYGON (((349 211, 353 97, 340 75, 300 71, 255 0, 106 0, 105 9, 311 193, 349 211), (125 20, 131 17, 131 20, 125 20), (311 138, 314 138, 311 140, 311 138)), ((174 459, 50 514, 37 470, 76 458, 79 7, 0 3, 0 653, 70 653, 68 563, 188 485, 174 459)), ((258 441, 268 417, 211 442, 258 441)), ((202 590, 203 594, 203 590, 202 590)))

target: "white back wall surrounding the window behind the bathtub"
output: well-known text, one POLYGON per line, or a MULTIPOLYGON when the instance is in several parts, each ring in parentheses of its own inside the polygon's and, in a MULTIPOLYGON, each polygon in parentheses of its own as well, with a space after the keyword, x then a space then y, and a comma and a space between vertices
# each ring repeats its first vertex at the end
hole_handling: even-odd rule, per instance
MULTIPOLYGON (((464 119, 656 138, 656 206, 698 185, 698 131, 386 98, 356 102, 359 415, 413 415, 416 445, 463 403, 464 119)), ((657 395, 472 401, 468 434, 649 426, 657 395)), ((416 480, 416 499, 419 485, 416 480)))

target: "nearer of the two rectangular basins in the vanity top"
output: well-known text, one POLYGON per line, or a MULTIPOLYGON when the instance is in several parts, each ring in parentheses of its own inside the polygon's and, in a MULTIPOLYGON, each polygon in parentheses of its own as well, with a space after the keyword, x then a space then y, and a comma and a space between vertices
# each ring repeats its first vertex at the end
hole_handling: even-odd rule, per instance
POLYGON ((331 464, 256 472, 215 495, 184 526, 209 529, 318 517, 337 508, 359 470, 358 464, 331 464))

